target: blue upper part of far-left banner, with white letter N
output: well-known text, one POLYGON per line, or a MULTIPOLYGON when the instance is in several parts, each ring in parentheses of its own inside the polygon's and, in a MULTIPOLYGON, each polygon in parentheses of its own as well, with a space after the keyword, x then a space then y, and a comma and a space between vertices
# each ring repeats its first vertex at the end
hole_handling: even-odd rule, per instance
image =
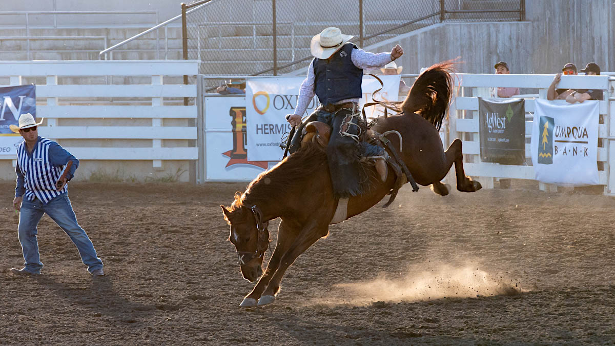
POLYGON ((10 125, 17 125, 19 116, 30 113, 36 119, 36 87, 0 87, 0 134, 19 135, 10 131, 10 125))

